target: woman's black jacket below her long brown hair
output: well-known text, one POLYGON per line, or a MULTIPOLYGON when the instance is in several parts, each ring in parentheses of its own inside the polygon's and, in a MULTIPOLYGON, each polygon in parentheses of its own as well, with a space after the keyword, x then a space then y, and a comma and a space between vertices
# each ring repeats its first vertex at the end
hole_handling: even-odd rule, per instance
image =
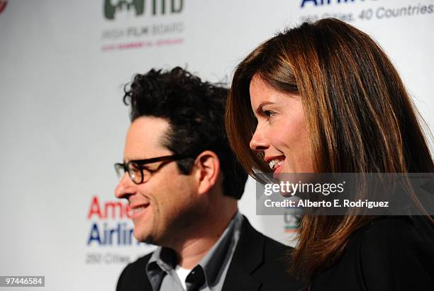
POLYGON ((378 217, 350 238, 310 291, 433 291, 434 227, 426 217, 378 217))

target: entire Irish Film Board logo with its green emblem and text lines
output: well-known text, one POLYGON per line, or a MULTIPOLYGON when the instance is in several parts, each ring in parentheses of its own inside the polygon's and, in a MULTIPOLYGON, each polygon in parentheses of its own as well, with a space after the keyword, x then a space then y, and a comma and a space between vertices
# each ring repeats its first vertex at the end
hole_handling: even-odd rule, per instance
POLYGON ((104 52, 182 45, 184 0, 104 0, 104 52))

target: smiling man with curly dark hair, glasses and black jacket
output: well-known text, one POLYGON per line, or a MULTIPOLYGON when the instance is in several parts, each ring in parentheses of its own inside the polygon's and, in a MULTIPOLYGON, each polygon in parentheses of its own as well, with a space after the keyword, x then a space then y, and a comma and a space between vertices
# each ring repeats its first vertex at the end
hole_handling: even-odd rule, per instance
POLYGON ((179 67, 126 86, 132 123, 116 197, 133 210, 135 238, 159 248, 130 263, 117 290, 298 287, 284 265, 289 248, 238 212, 247 174, 223 129, 227 93, 179 67))

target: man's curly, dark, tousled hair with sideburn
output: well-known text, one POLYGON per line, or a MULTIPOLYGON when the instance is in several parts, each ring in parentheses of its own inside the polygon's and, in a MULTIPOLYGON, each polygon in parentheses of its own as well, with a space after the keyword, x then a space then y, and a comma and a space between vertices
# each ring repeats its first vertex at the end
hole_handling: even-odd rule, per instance
MULTIPOLYGON (((233 155, 224 128, 228 89, 175 67, 136 74, 124 91, 123 103, 131 105, 131 122, 141 116, 167 120, 170 129, 164 146, 175 154, 215 152, 224 176, 223 193, 241 198, 247 173, 233 155)), ((191 173, 193 164, 194 159, 177 161, 180 173, 185 175, 191 173)))

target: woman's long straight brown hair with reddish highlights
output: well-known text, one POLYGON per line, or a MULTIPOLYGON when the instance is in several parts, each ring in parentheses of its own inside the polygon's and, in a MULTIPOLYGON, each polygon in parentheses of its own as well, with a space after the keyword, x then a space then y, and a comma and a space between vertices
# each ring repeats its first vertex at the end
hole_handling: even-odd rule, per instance
MULTIPOLYGON (((279 33, 237 67, 226 108, 230 146, 245 170, 270 171, 252 152, 250 81, 301 96, 318 173, 433 173, 433 157, 398 72, 372 38, 326 18, 279 33)), ((292 270, 309 280, 343 252, 367 216, 305 216, 292 270)))

